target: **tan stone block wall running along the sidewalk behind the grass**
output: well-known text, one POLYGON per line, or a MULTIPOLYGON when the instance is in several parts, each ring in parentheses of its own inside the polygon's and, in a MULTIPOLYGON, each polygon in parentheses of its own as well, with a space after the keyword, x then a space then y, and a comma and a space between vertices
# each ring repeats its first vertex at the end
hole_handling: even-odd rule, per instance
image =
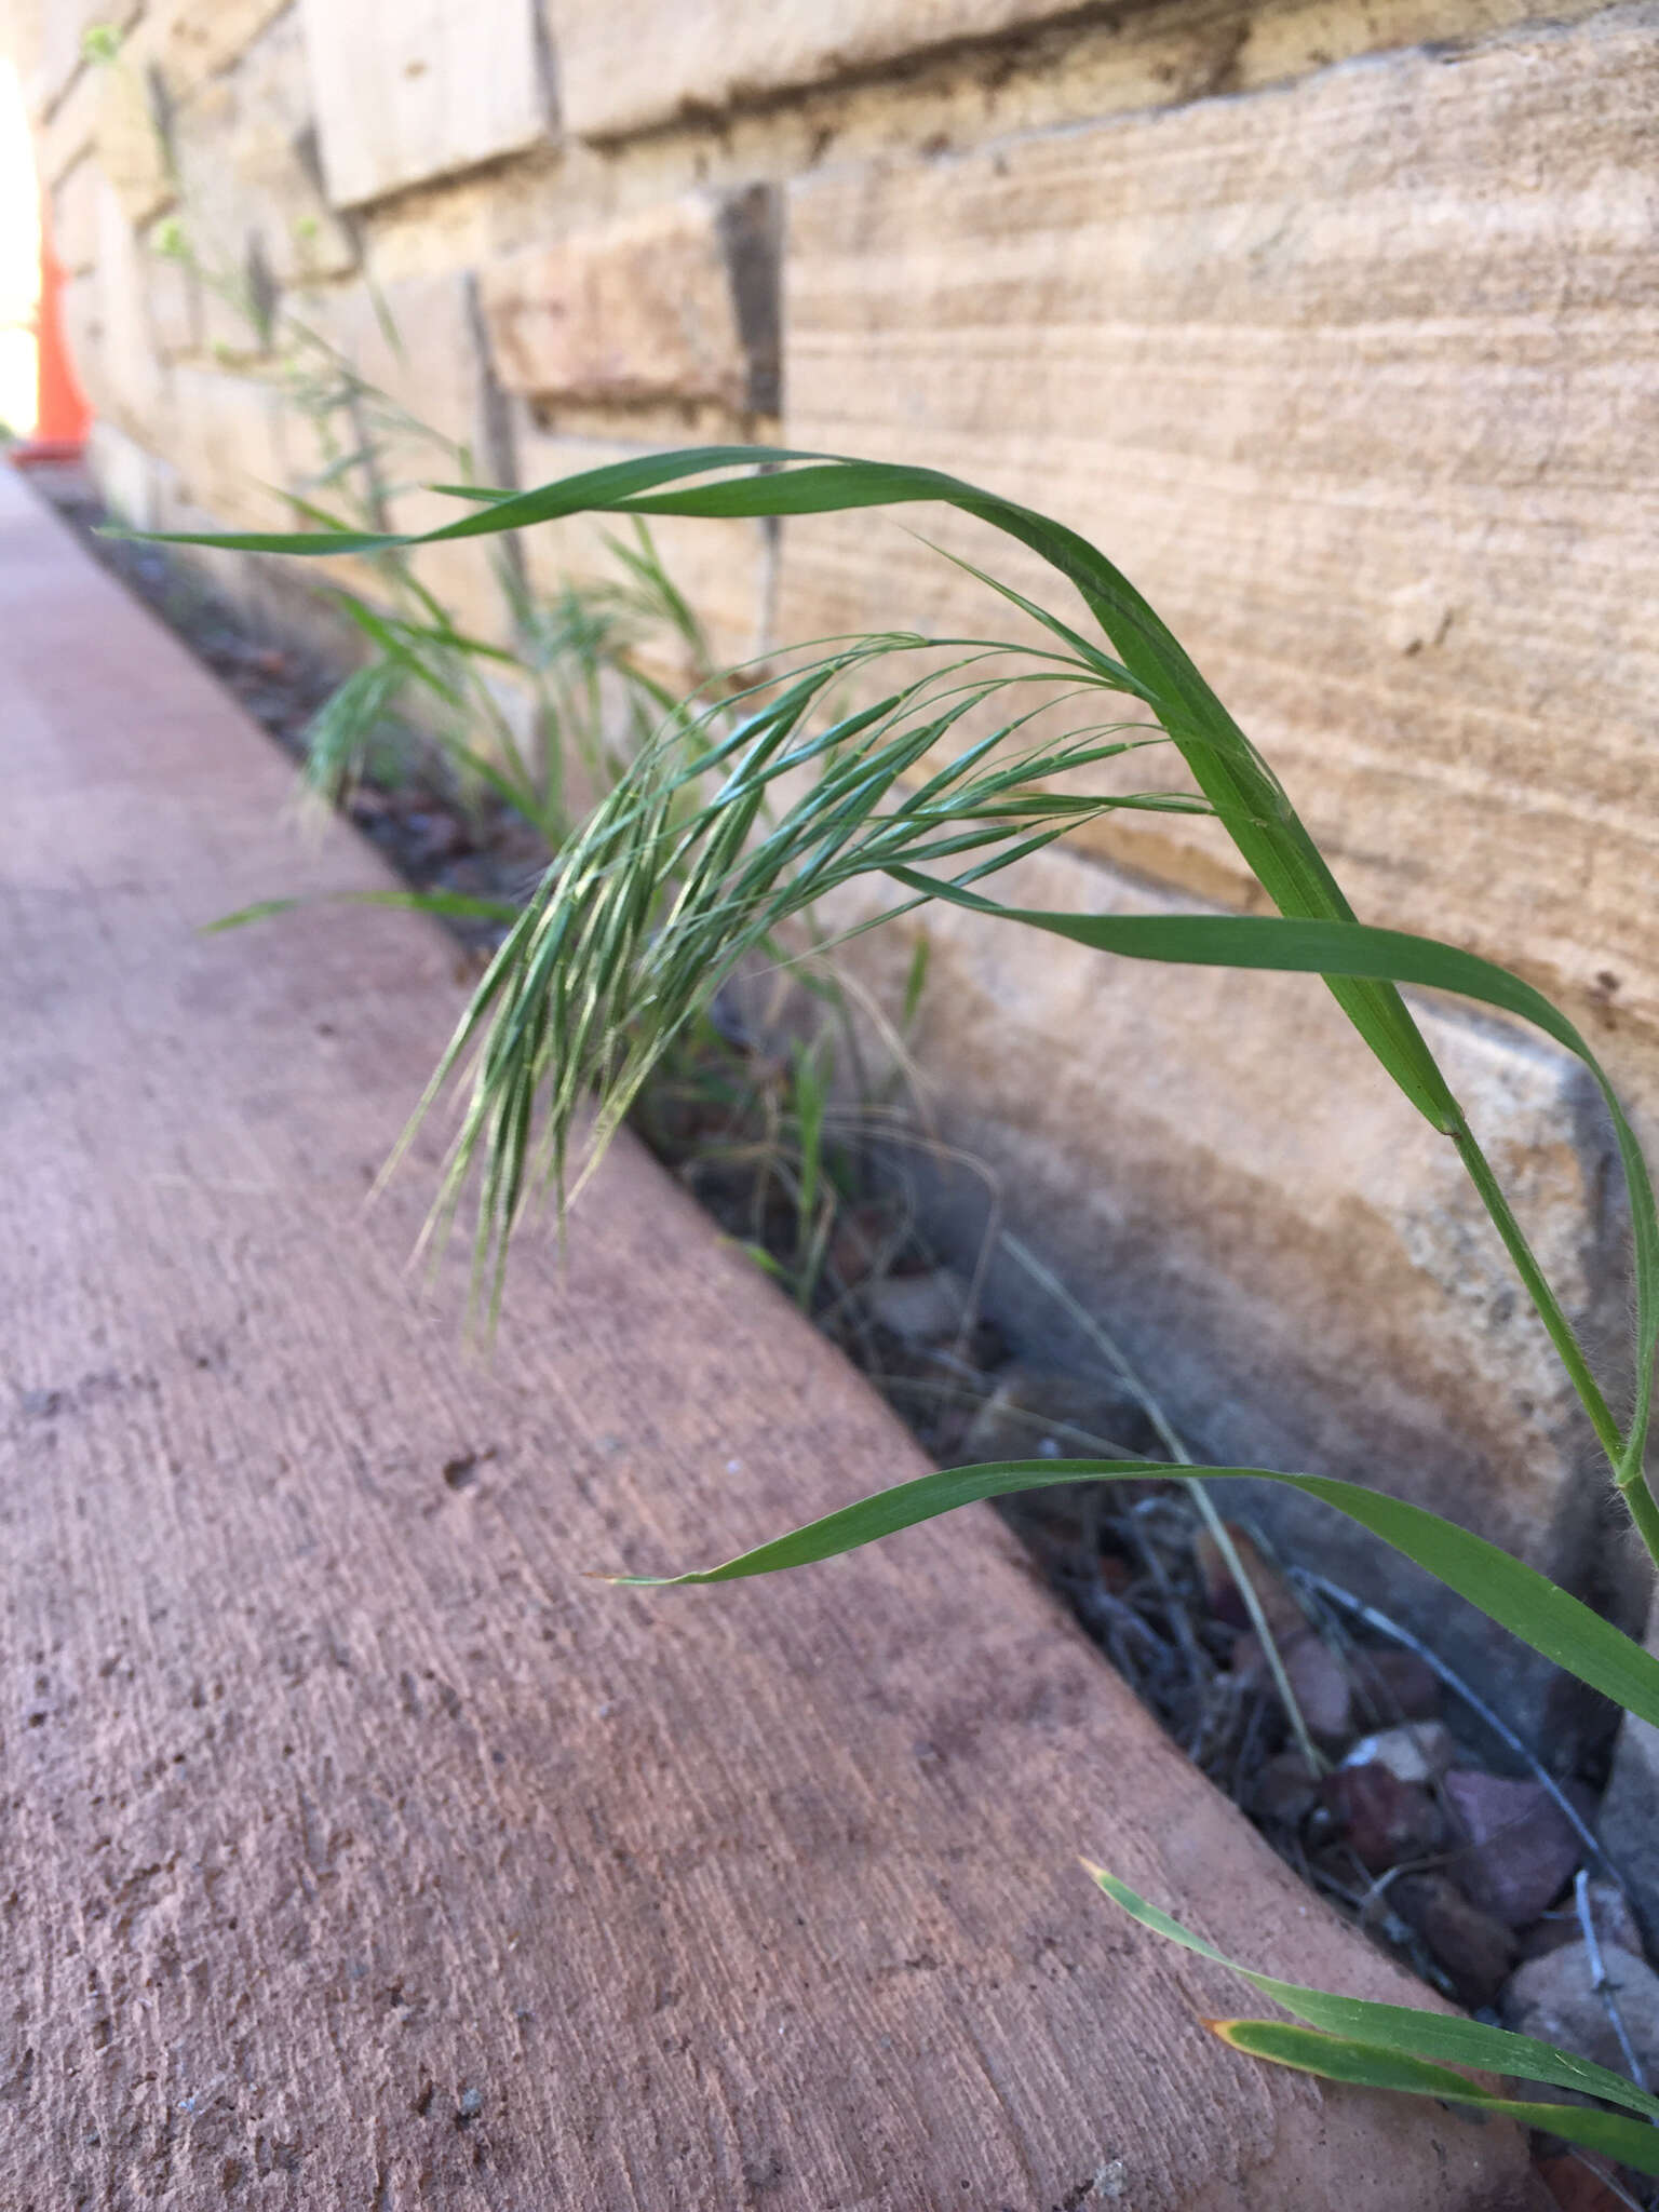
MULTIPOLYGON (((148 518, 268 522, 316 467, 177 232, 482 478, 703 438, 978 478, 1148 591, 1365 918, 1517 964, 1659 1124, 1650 0, 11 0, 9 38, 102 465, 148 518)), ((597 535, 529 540, 526 575, 597 535)), ((661 542, 730 657, 1006 619, 898 520, 661 542)), ((476 549, 427 577, 509 635, 476 549)), ((1029 874, 1084 907, 1252 896, 1179 816, 1029 874)), ((942 1133, 1208 1449, 1449 1506, 1639 1617, 1484 1217, 1316 987, 927 929, 942 1133)), ((902 964, 867 942, 872 978, 902 964)), ((1617 1365, 1579 1075, 1433 1026, 1617 1365)))

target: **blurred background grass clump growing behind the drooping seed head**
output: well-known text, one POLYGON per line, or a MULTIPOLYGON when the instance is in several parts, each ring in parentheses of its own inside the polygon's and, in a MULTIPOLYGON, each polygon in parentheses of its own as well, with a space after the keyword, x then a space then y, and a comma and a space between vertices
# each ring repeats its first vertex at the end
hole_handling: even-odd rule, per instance
MULTIPOLYGON (((119 42, 93 58, 100 66, 124 66, 119 42)), ((164 142, 159 150, 168 157, 164 142)), ((208 230, 199 212, 186 210, 161 228, 157 250, 212 294, 283 392, 312 465, 294 484, 265 489, 336 540, 385 533, 398 500, 434 471, 462 478, 462 489, 482 498, 473 491, 469 447, 372 383, 323 334, 316 312, 296 310, 259 281, 257 268, 239 268, 210 239, 204 243, 208 230)), ((374 310, 387 349, 400 356, 400 332, 378 294, 374 310)), ((407 544, 387 540, 363 551, 354 564, 367 575, 363 586, 330 575, 327 604, 354 633, 361 657, 305 728, 303 794, 336 807, 363 783, 436 790, 469 812, 504 810, 551 856, 611 801, 635 759, 657 748, 672 750, 681 770, 668 821, 692 812, 699 783, 719 772, 714 754, 741 714, 743 695, 664 566, 646 520, 606 533, 602 549, 597 573, 535 588, 518 549, 493 546, 504 644, 453 622, 407 544)), ((407 907, 495 933, 522 909, 518 896, 458 889, 363 891, 345 894, 345 902, 407 907)), ((234 929, 296 905, 263 898, 208 927, 234 929)), ((860 1068, 849 987, 821 958, 810 911, 801 925, 794 953, 807 956, 801 978, 816 1002, 810 1033, 774 1064, 754 1040, 737 1040, 730 1024, 699 1011, 655 1062, 646 1137, 688 1179, 721 1161, 741 1164, 743 1208, 752 1219, 734 1230, 794 1301, 812 1310, 825 1292, 843 1290, 834 1283, 830 1239, 843 1203, 869 1197, 867 1139, 880 1102, 860 1068), (838 1071, 852 1075, 849 1086, 838 1071), (686 1108, 695 1121, 690 1144, 679 1128, 686 1108), (794 1214, 792 1237, 779 1237, 772 1221, 779 1192, 794 1214)), ((898 1031, 916 1013, 922 980, 918 958, 898 1031)), ((898 1044, 898 1031, 887 1024, 889 1042, 898 1044)), ((902 1064, 902 1051, 894 1057, 902 1064)))

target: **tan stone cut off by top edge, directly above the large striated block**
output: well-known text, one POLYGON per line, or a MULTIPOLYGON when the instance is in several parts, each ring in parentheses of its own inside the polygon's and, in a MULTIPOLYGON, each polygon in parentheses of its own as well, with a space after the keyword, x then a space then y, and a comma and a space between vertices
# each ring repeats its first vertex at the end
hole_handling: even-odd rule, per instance
POLYGON ((772 0, 714 24, 684 0, 551 0, 560 113, 577 137, 613 137, 1062 13, 1064 0, 772 0))

